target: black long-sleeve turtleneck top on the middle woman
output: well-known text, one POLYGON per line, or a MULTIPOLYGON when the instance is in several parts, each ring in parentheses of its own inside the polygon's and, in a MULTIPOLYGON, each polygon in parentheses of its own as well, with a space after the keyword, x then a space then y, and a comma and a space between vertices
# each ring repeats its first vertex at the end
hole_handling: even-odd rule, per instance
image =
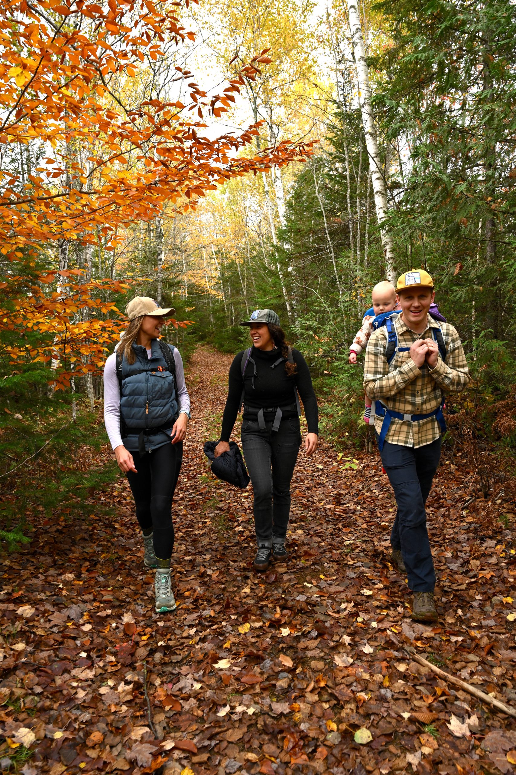
POLYGON ((258 350, 256 347, 252 347, 251 358, 254 358, 256 363, 255 387, 253 387, 254 367, 251 362, 247 365, 244 381, 242 381, 242 356, 245 352, 247 350, 241 350, 234 356, 229 370, 229 390, 222 418, 220 440, 228 442, 230 439, 240 407, 242 386, 244 387, 244 419, 256 418, 256 415, 250 413, 246 415, 246 406, 258 409, 273 406, 280 406, 283 409, 285 406, 291 406, 292 408, 288 411, 283 411, 283 418, 289 419, 297 416, 294 395, 294 385, 296 384, 299 398, 301 398, 305 409, 308 432, 319 434, 316 394, 313 392, 312 378, 306 360, 299 350, 292 348, 296 374, 289 377, 285 371, 285 363, 279 363, 274 369, 271 368, 272 364, 280 357, 279 350, 258 350))

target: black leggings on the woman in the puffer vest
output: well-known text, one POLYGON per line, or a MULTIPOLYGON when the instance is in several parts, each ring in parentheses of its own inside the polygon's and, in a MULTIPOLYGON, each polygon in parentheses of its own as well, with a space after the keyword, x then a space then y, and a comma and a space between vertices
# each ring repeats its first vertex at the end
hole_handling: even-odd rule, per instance
POLYGON ((135 498, 136 518, 142 530, 152 529, 155 556, 169 560, 174 548, 172 499, 183 463, 183 442, 163 444, 144 456, 133 452, 132 457, 138 474, 128 471, 126 476, 135 498))

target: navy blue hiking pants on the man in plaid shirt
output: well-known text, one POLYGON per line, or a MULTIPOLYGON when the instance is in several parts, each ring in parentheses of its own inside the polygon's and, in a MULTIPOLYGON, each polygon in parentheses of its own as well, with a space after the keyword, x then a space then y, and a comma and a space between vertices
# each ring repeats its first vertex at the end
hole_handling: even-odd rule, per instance
POLYGON ((391 531, 392 549, 402 549, 408 587, 413 592, 433 592, 436 573, 426 530, 425 503, 439 465, 441 439, 417 449, 386 441, 380 455, 398 506, 391 531))

